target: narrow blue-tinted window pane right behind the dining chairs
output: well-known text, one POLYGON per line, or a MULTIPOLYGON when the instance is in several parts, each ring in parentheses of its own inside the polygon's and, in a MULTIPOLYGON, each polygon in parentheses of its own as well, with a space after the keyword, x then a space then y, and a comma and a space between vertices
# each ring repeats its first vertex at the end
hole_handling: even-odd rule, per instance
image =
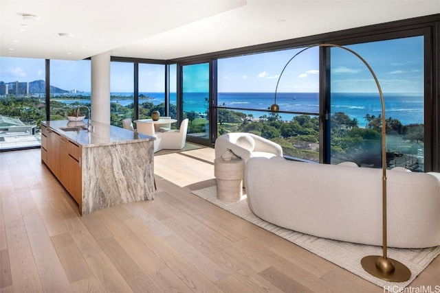
POLYGON ((189 119, 188 136, 209 139, 210 64, 181 67, 183 118, 189 119))

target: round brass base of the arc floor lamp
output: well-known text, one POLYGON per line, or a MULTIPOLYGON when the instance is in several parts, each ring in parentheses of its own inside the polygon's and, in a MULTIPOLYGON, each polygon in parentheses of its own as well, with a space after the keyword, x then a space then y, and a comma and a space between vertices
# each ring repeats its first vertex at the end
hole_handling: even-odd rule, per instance
POLYGON ((384 259, 384 257, 378 255, 369 255, 364 257, 360 263, 366 272, 385 281, 404 282, 411 277, 410 270, 395 259, 384 259))

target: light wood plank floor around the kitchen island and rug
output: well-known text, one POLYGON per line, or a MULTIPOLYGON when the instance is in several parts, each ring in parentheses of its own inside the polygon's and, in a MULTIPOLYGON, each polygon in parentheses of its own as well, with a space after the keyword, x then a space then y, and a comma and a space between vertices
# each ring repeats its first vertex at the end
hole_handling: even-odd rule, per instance
MULTIPOLYGON (((159 152, 155 200, 80 217, 40 150, 1 152, 0 292, 384 292, 190 194, 213 157, 159 152)), ((437 257, 411 286, 439 280, 437 257)))

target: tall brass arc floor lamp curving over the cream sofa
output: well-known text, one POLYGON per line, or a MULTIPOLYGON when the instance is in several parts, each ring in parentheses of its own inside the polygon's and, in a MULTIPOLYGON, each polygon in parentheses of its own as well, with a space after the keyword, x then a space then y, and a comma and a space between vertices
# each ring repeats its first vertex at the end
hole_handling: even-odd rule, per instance
POLYGON ((375 75, 373 69, 371 69, 370 65, 362 56, 360 56, 358 53, 353 51, 352 49, 349 49, 347 47, 343 47, 341 45, 335 45, 335 44, 329 44, 329 43, 322 43, 322 44, 316 44, 311 45, 309 47, 306 47, 305 49, 302 49, 301 51, 298 51, 292 58, 290 58, 289 61, 287 61, 286 65, 283 68, 283 71, 281 71, 281 74, 278 78, 278 82, 276 82, 276 88, 275 88, 275 97, 274 97, 274 104, 270 106, 270 110, 272 112, 278 112, 280 109, 279 106, 276 104, 276 93, 278 91, 278 84, 280 83, 281 76, 283 76, 283 73, 289 65, 289 63, 294 60, 296 56, 303 53, 303 51, 310 49, 312 47, 336 47, 340 49, 344 49, 346 51, 349 51, 351 54, 358 57, 364 65, 369 69, 371 75, 373 75, 373 78, 376 82, 377 89, 379 90, 380 95, 380 102, 382 103, 382 237, 383 237, 383 255, 369 255, 367 257, 364 257, 361 259, 361 265, 366 272, 369 272, 369 274, 372 274, 373 276, 386 280, 391 282, 404 282, 408 281, 411 277, 410 270, 399 261, 396 261, 395 259, 390 259, 386 255, 386 119, 385 119, 385 103, 384 103, 384 95, 382 93, 382 89, 380 87, 379 80, 377 80, 377 76, 375 75))

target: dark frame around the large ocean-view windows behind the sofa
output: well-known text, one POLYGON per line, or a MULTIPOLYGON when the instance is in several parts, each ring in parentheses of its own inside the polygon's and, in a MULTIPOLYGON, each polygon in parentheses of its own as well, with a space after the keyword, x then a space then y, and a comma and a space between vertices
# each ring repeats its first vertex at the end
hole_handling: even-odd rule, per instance
MULTIPOLYGON (((336 43, 338 45, 353 45, 356 43, 368 43, 378 40, 387 40, 393 38, 403 38, 410 36, 425 36, 425 170, 438 171, 440 169, 440 93, 438 84, 440 84, 440 67, 437 66, 440 60, 440 14, 432 14, 430 16, 421 16, 413 19, 404 19, 389 23, 380 23, 365 27, 357 27, 338 32, 329 32, 315 36, 307 36, 285 40, 281 42, 266 43, 261 45, 241 47, 238 49, 230 49, 226 51, 217 51, 209 54, 201 54, 198 56, 190 56, 186 58, 177 58, 168 60, 167 62, 177 62, 178 64, 195 64, 211 59, 217 60, 221 58, 230 58, 241 55, 264 53, 267 51, 277 51, 283 49, 294 49, 297 47, 307 47, 317 43, 336 43), (434 71, 434 69, 437 69, 434 71)), ((321 48, 323 49, 323 48, 321 48)), ((324 95, 320 97, 320 103, 323 111, 329 109, 328 95, 329 89, 327 84, 327 50, 320 51, 320 69, 322 72, 320 93, 324 95)), ((179 88, 178 88, 179 89, 179 88)), ((217 95, 213 92, 212 95, 217 95)), ((217 108, 214 106, 213 108, 217 108)), ((320 150, 320 162, 329 161, 329 129, 326 126, 326 113, 320 113, 323 123, 320 141, 322 141, 322 149, 320 150), (321 140, 322 139, 322 140, 321 140), (325 144, 325 145, 324 145, 325 144)), ((214 121, 214 119, 212 119, 214 121)), ((214 123, 210 122, 212 126, 214 123)), ((215 124, 217 126, 217 124, 215 124)), ((212 132, 217 132, 217 128, 212 128, 212 132)), ((214 137, 212 137, 214 139, 214 137)), ((321 144, 320 144, 321 145, 321 144)))

